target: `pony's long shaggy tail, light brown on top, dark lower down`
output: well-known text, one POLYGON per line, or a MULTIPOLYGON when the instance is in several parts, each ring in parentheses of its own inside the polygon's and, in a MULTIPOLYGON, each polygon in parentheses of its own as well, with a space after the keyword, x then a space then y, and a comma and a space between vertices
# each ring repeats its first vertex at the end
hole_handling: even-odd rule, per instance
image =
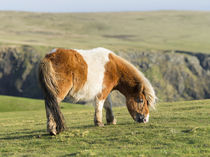
POLYGON ((39 83, 44 92, 45 108, 47 112, 48 131, 51 134, 58 134, 65 130, 65 120, 58 105, 58 87, 55 76, 55 71, 50 60, 44 58, 39 65, 39 83), (55 123, 55 124, 52 124, 55 123), (55 130, 56 129, 56 130, 55 130), (55 132, 56 131, 56 132, 55 132))

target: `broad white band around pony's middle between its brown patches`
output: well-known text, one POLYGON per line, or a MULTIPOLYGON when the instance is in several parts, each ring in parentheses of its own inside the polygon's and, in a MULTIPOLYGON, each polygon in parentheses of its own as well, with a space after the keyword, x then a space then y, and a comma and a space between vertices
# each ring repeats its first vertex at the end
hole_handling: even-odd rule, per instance
POLYGON ((70 93, 78 100, 93 100, 97 94, 102 92, 105 65, 109 61, 109 54, 112 51, 105 48, 95 48, 91 50, 77 50, 82 55, 88 66, 87 81, 77 93, 70 93))

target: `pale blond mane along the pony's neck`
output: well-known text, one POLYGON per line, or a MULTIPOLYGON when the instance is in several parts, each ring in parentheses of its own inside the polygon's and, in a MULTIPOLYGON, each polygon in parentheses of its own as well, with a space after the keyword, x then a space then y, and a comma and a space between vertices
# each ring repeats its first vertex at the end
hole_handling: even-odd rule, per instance
POLYGON ((127 68, 129 68, 132 72, 134 72, 134 75, 136 75, 136 77, 138 78, 139 84, 142 84, 144 86, 144 94, 149 103, 149 106, 155 109, 157 97, 155 95, 155 91, 150 81, 144 76, 144 74, 141 71, 139 71, 130 62, 126 61, 122 57, 119 58, 122 60, 122 62, 124 62, 124 64, 126 64, 127 68))

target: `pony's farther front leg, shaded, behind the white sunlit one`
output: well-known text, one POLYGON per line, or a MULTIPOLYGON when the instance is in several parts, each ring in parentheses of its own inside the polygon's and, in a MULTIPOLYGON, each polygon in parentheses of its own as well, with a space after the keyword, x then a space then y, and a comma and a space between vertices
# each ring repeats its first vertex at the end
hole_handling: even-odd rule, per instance
POLYGON ((112 101, 111 96, 109 95, 104 103, 104 108, 106 110, 106 121, 107 124, 116 124, 117 120, 114 117, 114 114, 112 112, 112 101))

